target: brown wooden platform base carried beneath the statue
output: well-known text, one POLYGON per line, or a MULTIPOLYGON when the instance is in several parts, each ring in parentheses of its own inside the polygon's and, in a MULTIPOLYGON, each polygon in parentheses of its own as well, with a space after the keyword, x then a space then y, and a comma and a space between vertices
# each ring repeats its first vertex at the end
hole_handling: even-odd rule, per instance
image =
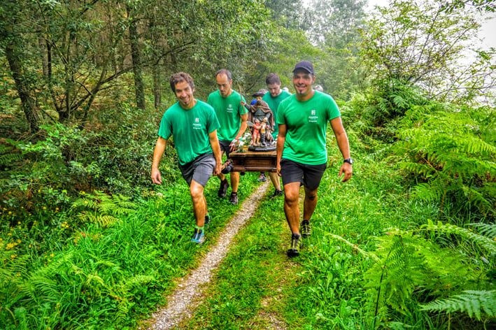
POLYGON ((232 152, 229 154, 235 172, 275 172, 276 151, 232 152))

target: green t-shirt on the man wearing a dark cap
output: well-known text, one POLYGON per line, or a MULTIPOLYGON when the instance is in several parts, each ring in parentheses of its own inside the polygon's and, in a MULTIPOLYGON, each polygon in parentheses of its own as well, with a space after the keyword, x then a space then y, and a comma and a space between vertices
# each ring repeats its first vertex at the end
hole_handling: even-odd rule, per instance
POLYGON ((283 158, 302 164, 325 164, 327 122, 340 115, 332 96, 318 91, 304 102, 295 95, 283 100, 277 111, 277 123, 286 125, 283 158))

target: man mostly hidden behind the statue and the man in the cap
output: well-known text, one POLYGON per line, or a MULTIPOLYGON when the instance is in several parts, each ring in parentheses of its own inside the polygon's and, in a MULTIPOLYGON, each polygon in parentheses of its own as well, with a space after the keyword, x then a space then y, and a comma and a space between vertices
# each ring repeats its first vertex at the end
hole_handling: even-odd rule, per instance
MULTIPOLYGON (((274 118, 277 118, 277 108, 279 107, 279 104, 283 101, 283 99, 291 96, 291 93, 281 89, 281 78, 279 78, 277 73, 269 73, 267 78, 265 78, 265 83, 267 84, 267 89, 269 92, 264 94, 262 101, 265 101, 269 105, 269 108, 271 108, 272 113, 274 114, 274 118)), ((274 125, 274 131, 272 132, 274 140, 277 139, 278 131, 278 125, 276 124, 274 125)), ((260 174, 261 177, 262 175, 264 175, 264 173, 260 174)), ((274 185, 274 188, 276 189, 272 196, 281 196, 283 191, 281 190, 281 182, 279 182, 277 173, 269 172, 269 178, 271 179, 272 185, 274 185)), ((263 179, 259 180, 264 181, 263 179)))

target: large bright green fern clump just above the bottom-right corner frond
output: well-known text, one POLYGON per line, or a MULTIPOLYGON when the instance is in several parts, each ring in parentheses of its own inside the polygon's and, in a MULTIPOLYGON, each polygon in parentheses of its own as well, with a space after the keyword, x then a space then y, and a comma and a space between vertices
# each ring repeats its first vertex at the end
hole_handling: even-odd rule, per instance
MULTIPOLYGON (((462 259, 451 248, 421 236, 424 230, 438 230, 446 234, 460 234, 468 246, 476 243, 493 251, 495 243, 468 229, 432 222, 419 230, 392 229, 378 238, 374 260, 378 260, 364 274, 365 286, 372 304, 370 310, 376 320, 385 319, 388 310, 410 314, 425 297, 442 297, 446 292, 483 287, 487 284, 487 270, 462 259), (489 241, 489 242, 488 242, 489 241), (420 294, 421 292, 421 294, 420 294)), ((492 253, 492 252, 491 252, 492 253)))

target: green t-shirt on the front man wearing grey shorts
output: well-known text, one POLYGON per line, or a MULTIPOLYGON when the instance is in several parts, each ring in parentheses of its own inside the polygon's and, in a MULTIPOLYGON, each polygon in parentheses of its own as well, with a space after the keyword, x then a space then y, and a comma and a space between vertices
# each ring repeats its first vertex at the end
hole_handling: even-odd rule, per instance
POLYGON ((166 110, 160 122, 158 135, 173 136, 179 164, 192 162, 199 155, 213 153, 208 134, 219 128, 215 111, 197 99, 191 109, 183 109, 178 102, 166 110))

